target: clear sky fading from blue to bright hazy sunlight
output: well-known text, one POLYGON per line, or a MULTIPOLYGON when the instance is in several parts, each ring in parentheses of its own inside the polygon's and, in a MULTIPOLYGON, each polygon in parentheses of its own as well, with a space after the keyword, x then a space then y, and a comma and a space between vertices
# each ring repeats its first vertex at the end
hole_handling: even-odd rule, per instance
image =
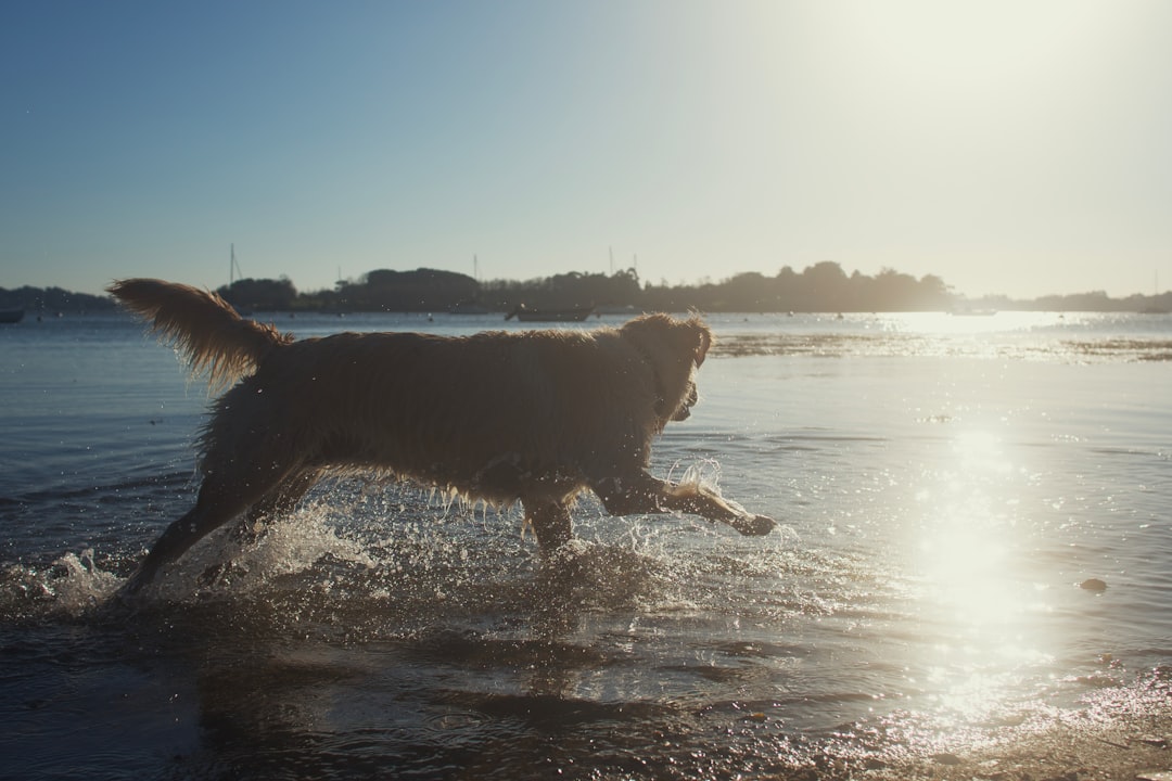
POLYGON ((0 74, 0 287, 1172 286, 1167 0, 5 0, 0 74))

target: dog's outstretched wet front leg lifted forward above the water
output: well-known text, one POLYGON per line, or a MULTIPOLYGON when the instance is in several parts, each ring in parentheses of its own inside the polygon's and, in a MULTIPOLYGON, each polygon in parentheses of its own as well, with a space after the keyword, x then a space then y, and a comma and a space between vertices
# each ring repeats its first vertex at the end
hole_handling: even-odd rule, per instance
POLYGON ((640 472, 638 475, 607 478, 591 486, 606 512, 612 515, 633 513, 688 513, 710 521, 728 523, 741 534, 769 534, 776 523, 765 515, 755 515, 736 502, 696 485, 673 486, 640 472))

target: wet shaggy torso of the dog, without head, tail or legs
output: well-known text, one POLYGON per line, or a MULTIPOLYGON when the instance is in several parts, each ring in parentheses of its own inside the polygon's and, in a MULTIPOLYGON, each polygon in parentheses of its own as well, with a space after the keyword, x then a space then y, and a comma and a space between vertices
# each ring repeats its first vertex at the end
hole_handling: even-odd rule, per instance
POLYGON ((646 466, 655 402, 613 329, 339 334, 272 351, 218 402, 204 450, 216 468, 267 432, 311 465, 511 502, 646 466))

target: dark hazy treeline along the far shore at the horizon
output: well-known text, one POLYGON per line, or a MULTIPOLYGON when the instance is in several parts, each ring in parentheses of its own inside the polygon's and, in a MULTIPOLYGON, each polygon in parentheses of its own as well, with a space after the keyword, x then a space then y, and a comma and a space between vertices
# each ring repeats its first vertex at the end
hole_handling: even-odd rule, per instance
MULTIPOLYGON (((672 286, 642 282, 633 268, 606 274, 556 274, 524 282, 479 281, 466 274, 418 268, 379 269, 333 289, 300 293, 287 278, 245 279, 217 293, 243 310, 254 311, 512 311, 593 306, 639 311, 942 311, 950 309, 1026 309, 1045 311, 1167 311, 1172 293, 1111 299, 1103 292, 1051 295, 1030 301, 1006 296, 970 300, 939 276, 915 279, 885 268, 874 276, 846 274, 831 261, 802 272, 789 266, 775 276, 756 272, 721 282, 672 286)), ((105 296, 60 288, 0 288, 0 308, 29 310, 110 309, 105 296)))

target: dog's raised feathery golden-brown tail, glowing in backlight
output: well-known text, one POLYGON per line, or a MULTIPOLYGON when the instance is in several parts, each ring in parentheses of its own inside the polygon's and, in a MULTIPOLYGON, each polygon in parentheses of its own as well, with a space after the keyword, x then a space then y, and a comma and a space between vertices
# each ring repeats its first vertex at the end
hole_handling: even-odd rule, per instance
POLYGON ((212 391, 252 374, 261 359, 293 337, 246 320, 209 290, 163 280, 121 280, 107 288, 186 359, 192 375, 206 372, 212 391))

